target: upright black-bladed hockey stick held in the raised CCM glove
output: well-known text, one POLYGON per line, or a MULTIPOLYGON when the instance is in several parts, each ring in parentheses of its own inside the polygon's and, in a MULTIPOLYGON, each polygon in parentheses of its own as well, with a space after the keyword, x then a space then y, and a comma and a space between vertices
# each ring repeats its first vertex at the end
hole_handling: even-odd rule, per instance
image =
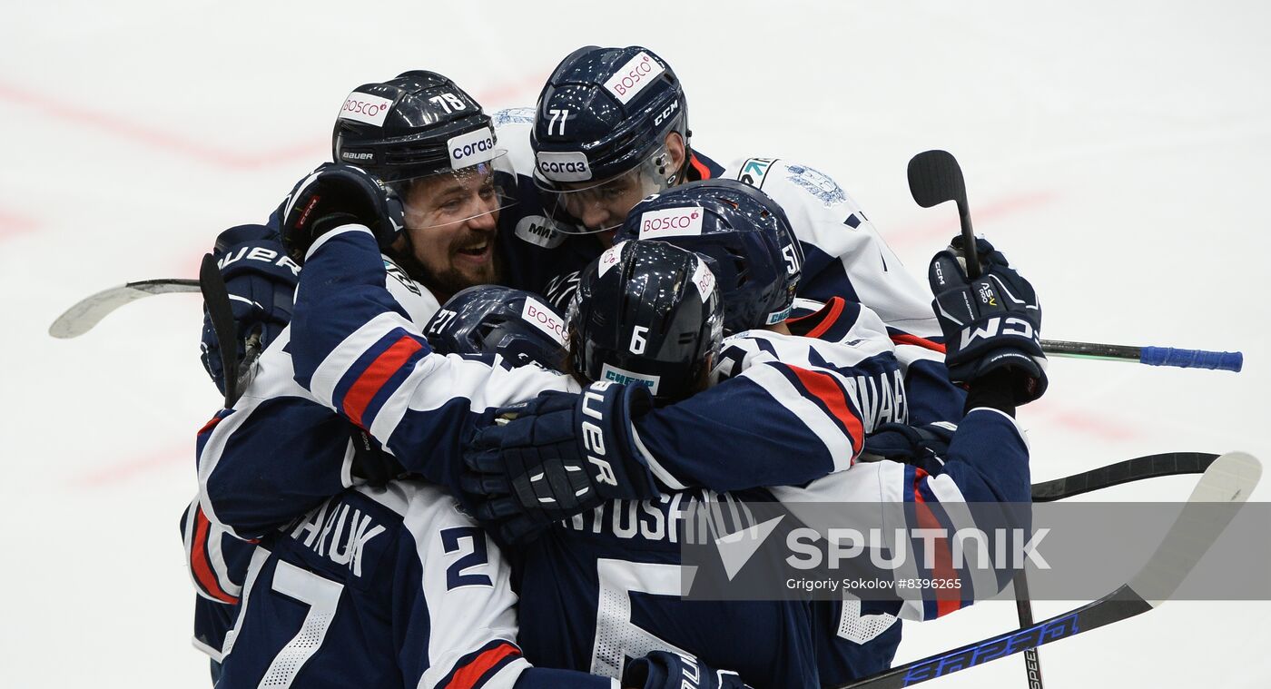
MULTIPOLYGON (((948 151, 923 151, 909 160, 909 193, 924 208, 946 201, 957 202, 958 224, 962 226, 962 254, 966 257, 966 276, 980 277, 980 257, 975 250, 975 233, 971 230, 971 208, 966 201, 966 179, 962 167, 948 151)), ((1019 613, 1019 627, 1027 629, 1033 624, 1032 601, 1028 600, 1028 575, 1021 567, 1016 572, 1012 586, 1016 589, 1016 609, 1019 613)), ((1024 650, 1024 670, 1028 674, 1030 689, 1042 689, 1041 658, 1037 648, 1024 650)))

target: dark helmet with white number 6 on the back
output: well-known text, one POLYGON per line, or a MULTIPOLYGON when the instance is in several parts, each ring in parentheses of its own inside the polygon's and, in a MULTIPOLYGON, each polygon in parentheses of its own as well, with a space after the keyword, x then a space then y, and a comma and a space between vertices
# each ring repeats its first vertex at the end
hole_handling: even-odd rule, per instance
POLYGON ((655 399, 697 392, 723 339, 723 308, 702 257, 623 242, 582 272, 569 303, 569 357, 588 380, 642 383, 655 399))

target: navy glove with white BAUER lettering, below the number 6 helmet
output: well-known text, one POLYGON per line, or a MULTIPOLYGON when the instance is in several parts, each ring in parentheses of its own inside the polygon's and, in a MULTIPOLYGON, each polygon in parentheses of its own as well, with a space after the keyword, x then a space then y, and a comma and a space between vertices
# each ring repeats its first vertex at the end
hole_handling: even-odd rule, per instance
POLYGON ((606 500, 657 496, 632 428, 652 408, 644 385, 597 381, 498 409, 464 455, 477 519, 505 543, 525 543, 606 500))

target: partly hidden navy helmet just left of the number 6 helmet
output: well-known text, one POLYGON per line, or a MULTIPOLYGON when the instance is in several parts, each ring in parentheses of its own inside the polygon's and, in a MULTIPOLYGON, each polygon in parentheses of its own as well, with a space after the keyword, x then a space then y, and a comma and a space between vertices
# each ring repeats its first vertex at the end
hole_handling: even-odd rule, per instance
POLYGON ((423 328, 441 353, 500 355, 513 366, 536 361, 561 370, 564 318, 533 294, 477 285, 451 296, 423 328))

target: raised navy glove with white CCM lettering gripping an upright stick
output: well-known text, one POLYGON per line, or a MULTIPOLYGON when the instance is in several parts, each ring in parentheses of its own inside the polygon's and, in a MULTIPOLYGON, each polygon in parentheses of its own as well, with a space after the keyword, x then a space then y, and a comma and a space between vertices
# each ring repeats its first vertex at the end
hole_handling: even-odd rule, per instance
POLYGON ((1046 392, 1046 355, 1041 351, 1041 305, 1032 285, 984 239, 976 240, 980 277, 969 280, 961 238, 935 254, 928 272, 932 306, 944 333, 949 380, 969 384, 1004 369, 1016 404, 1046 392))

